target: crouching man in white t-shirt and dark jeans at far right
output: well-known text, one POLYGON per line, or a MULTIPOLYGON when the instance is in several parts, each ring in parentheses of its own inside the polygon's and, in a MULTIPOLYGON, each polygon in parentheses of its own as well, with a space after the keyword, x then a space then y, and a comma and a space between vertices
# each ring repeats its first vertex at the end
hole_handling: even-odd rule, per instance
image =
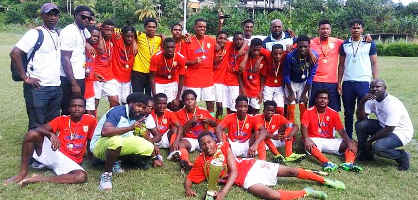
POLYGON ((399 164, 398 170, 408 170, 410 154, 396 148, 411 141, 414 128, 405 106, 386 92, 383 80, 375 79, 370 83, 370 92, 361 99, 356 115, 359 159, 372 160, 374 153, 395 160, 399 164), (377 120, 368 118, 372 113, 377 120))

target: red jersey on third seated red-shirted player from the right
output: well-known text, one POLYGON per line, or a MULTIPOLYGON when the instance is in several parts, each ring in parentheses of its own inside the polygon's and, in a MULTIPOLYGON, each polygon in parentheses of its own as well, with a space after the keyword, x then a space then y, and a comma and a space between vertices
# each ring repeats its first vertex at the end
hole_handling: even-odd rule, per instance
POLYGON ((238 124, 237 120, 237 114, 233 113, 225 116, 221 122, 222 127, 228 128, 228 138, 232 142, 245 143, 251 138, 252 132, 259 130, 261 126, 257 117, 250 114, 247 114, 244 120, 238 120, 238 124))

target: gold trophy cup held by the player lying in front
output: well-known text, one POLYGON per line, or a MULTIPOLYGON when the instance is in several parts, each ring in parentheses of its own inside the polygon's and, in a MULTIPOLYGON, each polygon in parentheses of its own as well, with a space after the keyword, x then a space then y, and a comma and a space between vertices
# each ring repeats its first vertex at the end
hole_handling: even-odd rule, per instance
POLYGON ((216 185, 219 183, 219 180, 226 176, 228 167, 226 164, 223 164, 220 159, 215 158, 212 161, 206 161, 204 170, 206 180, 208 180, 208 191, 206 191, 205 200, 214 200, 216 185), (225 170, 225 173, 219 178, 219 175, 223 170, 225 170))

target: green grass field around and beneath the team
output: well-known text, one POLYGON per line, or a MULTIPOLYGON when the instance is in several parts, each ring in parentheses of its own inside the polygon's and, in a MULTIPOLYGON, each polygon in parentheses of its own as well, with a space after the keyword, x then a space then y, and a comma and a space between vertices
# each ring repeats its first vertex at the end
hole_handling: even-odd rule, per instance
MULTIPOLYGON (((9 70, 9 52, 19 39, 18 35, 0 35, 0 181, 9 178, 19 171, 20 151, 23 135, 28 119, 22 94, 22 82, 13 82, 9 70)), ((414 131, 418 128, 418 58, 379 57, 379 75, 387 82, 388 92, 400 98, 405 104, 413 124, 414 131)), ((102 115, 108 103, 101 101, 99 115, 102 115)), ((342 115, 342 113, 340 113, 342 115)), ((298 133, 300 135, 300 133, 298 133)), ((274 189, 299 190, 310 186, 323 190, 331 200, 413 200, 418 199, 418 143, 417 134, 405 147, 412 154, 411 169, 397 171, 395 161, 378 158, 376 162, 358 162, 364 171, 360 174, 342 170, 329 175, 330 178, 346 183, 346 191, 336 191, 323 187, 314 182, 293 178, 280 178, 274 189)), ((295 150, 301 152, 299 145, 295 150)), ((282 151, 284 152, 284 151, 282 151)), ((163 150, 164 155, 167 151, 163 150)), ((191 154, 192 159, 198 155, 191 154)), ((337 164, 343 162, 343 157, 327 155, 337 164)), ((272 154, 268 153, 268 159, 272 154)), ((289 164, 305 168, 320 169, 319 163, 313 158, 299 164, 289 164)), ((184 176, 179 172, 177 163, 166 162, 163 168, 147 171, 128 169, 123 174, 114 174, 113 190, 103 193, 98 189, 99 176, 102 166, 93 167, 91 163, 82 165, 88 174, 88 181, 84 184, 61 185, 52 183, 31 184, 24 188, 17 184, 0 185, 0 200, 87 200, 87 199, 126 199, 126 200, 165 200, 165 199, 201 199, 205 192, 206 183, 194 185, 193 189, 199 194, 196 198, 185 198, 184 176)), ((50 171, 30 170, 30 174, 52 175, 50 171)), ((258 199, 233 186, 226 196, 228 200, 258 199)))

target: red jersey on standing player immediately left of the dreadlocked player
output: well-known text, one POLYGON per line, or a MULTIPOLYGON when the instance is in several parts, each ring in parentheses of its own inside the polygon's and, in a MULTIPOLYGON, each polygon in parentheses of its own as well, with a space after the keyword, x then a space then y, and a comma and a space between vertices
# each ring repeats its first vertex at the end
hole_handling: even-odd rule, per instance
MULTIPOLYGON (((114 36, 112 36, 113 38, 114 36)), ((114 79, 114 75, 112 72, 112 65, 110 63, 110 58, 113 52, 113 39, 107 40, 104 42, 103 51, 98 51, 98 43, 94 45, 96 48, 96 58, 94 59, 94 71, 103 76, 104 81, 110 81, 114 79)), ((94 81, 98 81, 94 77, 94 81)))

